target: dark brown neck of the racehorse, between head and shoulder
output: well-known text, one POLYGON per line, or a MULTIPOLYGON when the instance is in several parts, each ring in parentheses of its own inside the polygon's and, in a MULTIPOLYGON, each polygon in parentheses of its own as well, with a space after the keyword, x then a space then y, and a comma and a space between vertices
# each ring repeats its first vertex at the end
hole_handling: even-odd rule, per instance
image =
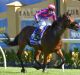
POLYGON ((48 26, 45 33, 47 36, 60 38, 65 30, 66 30, 66 27, 62 25, 61 22, 55 21, 52 26, 48 26))

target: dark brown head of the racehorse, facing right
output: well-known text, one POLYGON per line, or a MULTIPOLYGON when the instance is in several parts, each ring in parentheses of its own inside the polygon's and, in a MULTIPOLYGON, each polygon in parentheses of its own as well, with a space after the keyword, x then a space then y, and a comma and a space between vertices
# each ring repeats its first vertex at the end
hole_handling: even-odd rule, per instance
POLYGON ((77 22, 75 22, 73 16, 68 13, 63 14, 62 25, 65 28, 69 28, 69 29, 73 29, 73 30, 79 29, 79 26, 78 26, 77 22))

